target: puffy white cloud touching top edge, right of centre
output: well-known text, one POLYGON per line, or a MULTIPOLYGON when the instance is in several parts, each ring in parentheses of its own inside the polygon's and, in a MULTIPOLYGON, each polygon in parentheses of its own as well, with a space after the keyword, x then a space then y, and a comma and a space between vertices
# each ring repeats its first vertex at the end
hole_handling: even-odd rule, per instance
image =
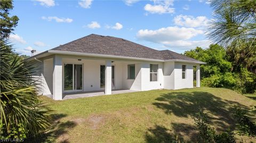
POLYGON ((174 13, 175 9, 173 7, 173 1, 154 1, 154 5, 146 4, 144 10, 149 13, 174 13))

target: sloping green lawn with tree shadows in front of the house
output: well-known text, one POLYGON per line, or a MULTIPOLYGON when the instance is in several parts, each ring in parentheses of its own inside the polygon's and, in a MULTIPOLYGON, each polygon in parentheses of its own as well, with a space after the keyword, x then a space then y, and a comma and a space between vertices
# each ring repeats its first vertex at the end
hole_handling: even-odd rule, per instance
MULTIPOLYGON (((61 101, 42 98, 55 110, 51 129, 39 138, 45 142, 169 142, 177 135, 194 142, 193 117, 199 110, 208 113, 218 131, 236 131, 234 105, 245 109, 256 105, 256 100, 222 88, 151 90, 61 101)), ((249 116, 256 121, 252 113, 249 116)))

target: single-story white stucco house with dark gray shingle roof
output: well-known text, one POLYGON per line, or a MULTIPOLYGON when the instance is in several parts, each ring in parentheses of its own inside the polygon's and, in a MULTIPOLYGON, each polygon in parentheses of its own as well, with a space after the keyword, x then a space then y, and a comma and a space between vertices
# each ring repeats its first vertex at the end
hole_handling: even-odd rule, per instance
POLYGON ((91 34, 28 60, 41 67, 43 95, 61 100, 67 92, 113 89, 153 90, 200 87, 204 62, 169 50, 157 51, 132 41, 91 34), (195 67, 194 67, 195 68, 195 67))

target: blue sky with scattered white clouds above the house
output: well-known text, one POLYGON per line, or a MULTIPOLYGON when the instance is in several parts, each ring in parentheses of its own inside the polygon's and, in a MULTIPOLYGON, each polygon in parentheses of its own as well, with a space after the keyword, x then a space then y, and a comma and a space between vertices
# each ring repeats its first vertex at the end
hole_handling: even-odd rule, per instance
MULTIPOLYGON (((206 1, 14 1, 19 17, 10 36, 15 51, 30 55, 95 33, 150 48, 183 53, 206 48, 212 9, 206 1)), ((72 48, 72 47, 70 47, 72 48)))

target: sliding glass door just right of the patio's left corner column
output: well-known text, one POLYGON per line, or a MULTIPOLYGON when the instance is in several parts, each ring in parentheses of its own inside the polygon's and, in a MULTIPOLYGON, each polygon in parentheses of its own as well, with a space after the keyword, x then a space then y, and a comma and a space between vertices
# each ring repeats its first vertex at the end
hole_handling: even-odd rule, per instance
POLYGON ((83 89, 83 65, 64 64, 64 90, 83 89))

